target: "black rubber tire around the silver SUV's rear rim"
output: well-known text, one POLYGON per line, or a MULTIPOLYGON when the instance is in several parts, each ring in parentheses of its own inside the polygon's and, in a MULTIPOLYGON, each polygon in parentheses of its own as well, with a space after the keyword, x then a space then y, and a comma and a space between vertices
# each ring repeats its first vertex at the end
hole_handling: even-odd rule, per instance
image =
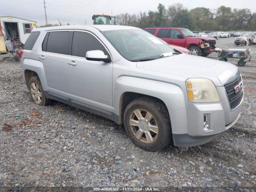
POLYGON ((42 84, 41 84, 38 76, 33 76, 32 78, 30 78, 30 80, 28 82, 28 89, 29 89, 29 92, 30 92, 30 97, 31 97, 32 102, 34 102, 36 104, 39 104, 39 105, 51 105, 52 104, 53 100, 46 98, 46 96, 44 94, 44 90, 42 88, 42 84), (32 91, 31 91, 31 84, 32 83, 35 83, 39 87, 39 90, 40 90, 40 93, 41 93, 41 102, 40 103, 36 102, 36 100, 34 100, 34 98, 32 96, 32 91))

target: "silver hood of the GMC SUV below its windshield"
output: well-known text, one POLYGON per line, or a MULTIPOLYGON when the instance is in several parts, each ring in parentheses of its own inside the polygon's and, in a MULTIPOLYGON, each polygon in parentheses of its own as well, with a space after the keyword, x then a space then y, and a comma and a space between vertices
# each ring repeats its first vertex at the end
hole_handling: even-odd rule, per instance
POLYGON ((236 66, 228 62, 188 54, 137 62, 136 65, 138 68, 159 72, 161 76, 175 77, 182 82, 188 78, 208 78, 215 86, 231 82, 234 79, 232 77, 236 77, 239 72, 236 66))

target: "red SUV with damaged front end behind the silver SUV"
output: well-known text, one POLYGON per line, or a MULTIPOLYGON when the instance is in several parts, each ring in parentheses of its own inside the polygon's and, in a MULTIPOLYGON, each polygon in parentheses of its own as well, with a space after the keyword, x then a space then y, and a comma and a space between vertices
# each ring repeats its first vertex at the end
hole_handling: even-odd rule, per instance
POLYGON ((186 28, 153 27, 145 28, 145 30, 168 44, 187 48, 192 55, 208 56, 215 49, 215 38, 197 37, 186 28))

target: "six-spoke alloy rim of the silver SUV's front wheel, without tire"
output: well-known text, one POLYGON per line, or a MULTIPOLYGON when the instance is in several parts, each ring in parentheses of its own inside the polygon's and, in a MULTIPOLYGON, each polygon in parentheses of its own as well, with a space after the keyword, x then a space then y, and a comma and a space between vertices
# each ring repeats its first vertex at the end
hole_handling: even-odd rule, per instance
POLYGON ((129 118, 130 129, 140 142, 153 143, 158 137, 159 128, 154 116, 145 109, 135 109, 129 118))

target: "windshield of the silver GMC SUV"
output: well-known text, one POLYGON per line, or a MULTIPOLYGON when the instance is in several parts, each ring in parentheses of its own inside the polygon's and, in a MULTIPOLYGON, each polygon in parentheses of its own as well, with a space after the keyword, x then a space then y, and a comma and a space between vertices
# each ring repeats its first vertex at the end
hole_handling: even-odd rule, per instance
POLYGON ((166 42, 144 30, 112 30, 103 31, 102 34, 130 61, 153 60, 177 54, 166 42))

